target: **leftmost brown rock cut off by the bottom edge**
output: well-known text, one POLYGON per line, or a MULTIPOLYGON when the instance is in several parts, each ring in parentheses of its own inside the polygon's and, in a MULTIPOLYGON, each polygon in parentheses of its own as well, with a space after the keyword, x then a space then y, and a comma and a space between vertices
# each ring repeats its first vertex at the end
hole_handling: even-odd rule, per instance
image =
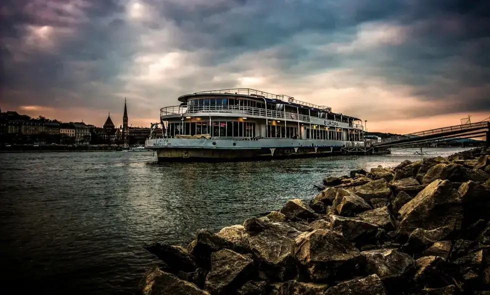
POLYGON ((193 283, 164 272, 158 266, 146 271, 139 282, 138 291, 141 295, 209 295, 193 283))

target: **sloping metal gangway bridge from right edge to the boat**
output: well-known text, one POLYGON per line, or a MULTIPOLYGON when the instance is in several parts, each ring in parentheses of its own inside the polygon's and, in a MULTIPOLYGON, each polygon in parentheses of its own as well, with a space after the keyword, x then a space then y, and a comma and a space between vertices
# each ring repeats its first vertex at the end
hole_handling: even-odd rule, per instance
POLYGON ((373 141, 373 147, 406 147, 434 142, 452 141, 456 138, 471 138, 486 135, 486 142, 490 144, 490 117, 475 123, 436 128, 410 134, 391 136, 373 141))

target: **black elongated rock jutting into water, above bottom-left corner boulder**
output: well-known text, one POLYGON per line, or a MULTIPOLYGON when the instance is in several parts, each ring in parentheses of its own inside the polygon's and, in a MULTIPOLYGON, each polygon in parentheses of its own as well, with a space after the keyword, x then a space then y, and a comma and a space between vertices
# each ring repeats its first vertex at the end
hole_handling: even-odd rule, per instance
POLYGON ((158 242, 143 245, 148 252, 152 253, 165 262, 171 269, 185 272, 194 271, 197 268, 193 257, 184 248, 161 244, 158 242))

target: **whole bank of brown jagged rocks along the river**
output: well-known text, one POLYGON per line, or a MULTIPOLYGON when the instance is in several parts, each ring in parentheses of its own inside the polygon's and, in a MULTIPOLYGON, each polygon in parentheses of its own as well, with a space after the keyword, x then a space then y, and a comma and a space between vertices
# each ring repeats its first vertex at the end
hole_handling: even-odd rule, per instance
POLYGON ((490 294, 490 149, 323 182, 186 247, 144 245, 162 262, 137 293, 490 294))

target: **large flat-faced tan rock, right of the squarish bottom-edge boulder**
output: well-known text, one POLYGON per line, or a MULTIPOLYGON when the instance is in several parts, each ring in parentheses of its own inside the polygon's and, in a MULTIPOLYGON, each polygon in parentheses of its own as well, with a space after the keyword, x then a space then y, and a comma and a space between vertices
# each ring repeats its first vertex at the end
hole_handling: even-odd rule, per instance
POLYGON ((243 223, 249 247, 260 260, 260 268, 268 278, 288 280, 296 274, 292 249, 301 233, 286 222, 249 218, 243 223))

